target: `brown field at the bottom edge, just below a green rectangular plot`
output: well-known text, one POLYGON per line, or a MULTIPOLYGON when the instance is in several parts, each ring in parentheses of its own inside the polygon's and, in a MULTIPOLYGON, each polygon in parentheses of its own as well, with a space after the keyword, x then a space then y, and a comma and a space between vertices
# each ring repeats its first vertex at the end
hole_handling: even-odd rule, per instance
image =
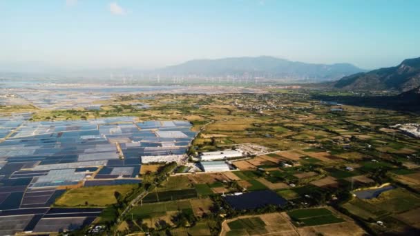
POLYGON ((310 226, 298 228, 299 235, 366 235, 365 230, 354 222, 325 224, 322 226, 310 226))

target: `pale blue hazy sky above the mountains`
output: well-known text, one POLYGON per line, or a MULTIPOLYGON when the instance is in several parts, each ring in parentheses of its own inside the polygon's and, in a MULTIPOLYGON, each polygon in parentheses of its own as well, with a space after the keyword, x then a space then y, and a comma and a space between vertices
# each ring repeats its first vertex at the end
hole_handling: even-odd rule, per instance
POLYGON ((420 57, 417 0, 0 0, 0 64, 169 66, 269 55, 365 69, 420 57))

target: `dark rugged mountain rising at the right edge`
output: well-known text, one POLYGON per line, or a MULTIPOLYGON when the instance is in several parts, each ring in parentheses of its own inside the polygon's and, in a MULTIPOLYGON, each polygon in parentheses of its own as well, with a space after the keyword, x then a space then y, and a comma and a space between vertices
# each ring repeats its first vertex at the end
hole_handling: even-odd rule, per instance
POLYGON ((343 77, 335 88, 359 90, 399 90, 405 92, 420 86, 420 57, 405 59, 398 66, 361 72, 343 77))

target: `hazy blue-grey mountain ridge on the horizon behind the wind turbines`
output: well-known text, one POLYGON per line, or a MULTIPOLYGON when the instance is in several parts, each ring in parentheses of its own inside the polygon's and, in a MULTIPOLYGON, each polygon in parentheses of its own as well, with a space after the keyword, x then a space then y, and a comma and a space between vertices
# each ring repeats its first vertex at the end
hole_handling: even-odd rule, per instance
POLYGON ((197 59, 175 66, 154 70, 163 76, 198 77, 264 77, 267 79, 313 79, 332 81, 346 75, 363 72, 350 63, 332 65, 288 61, 276 57, 230 57, 223 59, 197 59))

